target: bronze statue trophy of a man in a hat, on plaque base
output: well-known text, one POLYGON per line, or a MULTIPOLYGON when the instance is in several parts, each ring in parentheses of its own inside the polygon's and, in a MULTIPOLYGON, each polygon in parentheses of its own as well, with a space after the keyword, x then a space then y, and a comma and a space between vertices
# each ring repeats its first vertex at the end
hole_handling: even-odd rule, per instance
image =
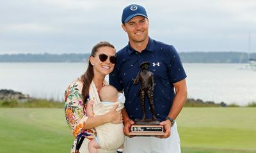
POLYGON ((159 121, 155 116, 155 107, 153 102, 154 95, 154 73, 148 71, 150 63, 142 62, 140 64, 140 71, 137 77, 134 79, 133 84, 138 84, 141 82, 140 87, 140 102, 143 112, 142 119, 135 119, 134 125, 131 126, 130 135, 164 135, 163 126, 159 125, 159 121), (152 119, 146 119, 145 110, 145 98, 148 98, 150 105, 150 112, 152 113, 152 119))

